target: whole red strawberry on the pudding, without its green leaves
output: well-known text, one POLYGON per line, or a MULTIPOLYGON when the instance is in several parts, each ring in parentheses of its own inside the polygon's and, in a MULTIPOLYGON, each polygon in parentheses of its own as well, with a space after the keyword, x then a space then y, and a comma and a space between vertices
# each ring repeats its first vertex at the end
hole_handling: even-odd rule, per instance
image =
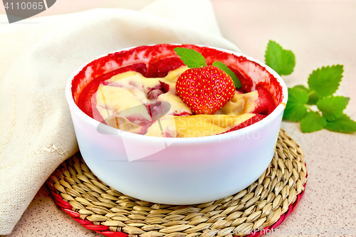
POLYGON ((176 90, 194 114, 212 115, 234 97, 235 86, 224 70, 211 65, 184 71, 176 90))

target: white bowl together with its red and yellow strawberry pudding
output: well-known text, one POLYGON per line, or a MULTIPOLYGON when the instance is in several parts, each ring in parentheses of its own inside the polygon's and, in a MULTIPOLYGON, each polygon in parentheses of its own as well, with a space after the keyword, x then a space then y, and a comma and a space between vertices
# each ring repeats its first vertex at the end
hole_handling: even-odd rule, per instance
POLYGON ((240 53, 163 44, 91 60, 68 80, 66 99, 80 153, 100 180, 136 199, 189 205, 236 194, 261 177, 276 149, 288 88, 271 68, 240 53), (231 89, 224 94, 205 92, 206 88, 214 92, 215 85, 216 92, 220 85, 231 87, 221 73, 226 83, 217 85, 211 78, 211 85, 204 88, 198 82, 202 88, 190 95, 188 82, 192 83, 184 85, 182 78, 188 79, 185 73, 194 68, 174 51, 177 47, 201 53, 206 67, 224 63, 241 87, 230 75, 237 88, 232 88, 232 98, 231 89), (115 93, 118 90, 120 94, 115 93), (205 93, 206 102, 201 100, 205 93), (208 103, 213 95, 220 99, 214 100, 216 106, 222 106, 216 111, 214 102, 211 107, 208 103), (188 99, 193 99, 192 105, 188 99))

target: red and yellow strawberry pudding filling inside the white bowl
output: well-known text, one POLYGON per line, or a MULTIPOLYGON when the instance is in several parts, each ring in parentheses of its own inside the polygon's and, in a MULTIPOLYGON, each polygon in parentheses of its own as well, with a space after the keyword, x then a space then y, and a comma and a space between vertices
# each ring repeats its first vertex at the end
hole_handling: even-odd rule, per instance
POLYGON ((210 91, 209 88, 203 92, 203 86, 199 88, 194 85, 194 82, 200 85, 198 76, 197 81, 194 78, 198 70, 189 69, 184 64, 174 52, 177 46, 142 46, 120 52, 120 60, 114 54, 105 63, 94 61, 91 66, 95 66, 98 72, 100 64, 103 68, 101 75, 93 75, 93 70, 90 74, 90 70, 84 68, 78 75, 89 78, 88 83, 80 85, 79 92, 80 83, 75 87, 74 78, 72 91, 75 102, 87 115, 110 127, 154 137, 204 137, 232 132, 262 120, 281 102, 281 85, 260 65, 211 48, 179 47, 194 48, 204 56, 207 70, 211 75, 213 70, 216 73, 216 76, 211 76, 211 81, 205 82, 204 88, 216 83, 219 85, 216 90, 211 88, 210 91), (211 66, 217 60, 226 63, 241 82, 241 88, 235 89, 229 75, 211 66), (248 65, 251 68, 259 66, 261 78, 268 76, 275 83, 261 81, 253 85, 249 76, 239 70, 239 65, 246 62, 251 63, 248 65), (194 86, 187 88, 187 76, 191 75, 194 86), (226 79, 226 83, 222 83, 224 85, 219 84, 219 75, 226 79), (216 101, 210 100, 206 92, 215 98, 222 98, 217 102, 221 102, 221 106, 214 107, 216 101), (194 95, 196 98, 193 101, 194 95))

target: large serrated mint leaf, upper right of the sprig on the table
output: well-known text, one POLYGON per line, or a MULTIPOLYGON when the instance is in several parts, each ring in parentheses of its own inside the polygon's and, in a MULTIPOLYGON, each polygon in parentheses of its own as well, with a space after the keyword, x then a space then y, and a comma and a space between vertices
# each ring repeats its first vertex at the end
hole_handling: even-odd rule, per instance
POLYGON ((333 65, 313 70, 309 75, 308 85, 311 91, 315 91, 320 97, 333 95, 342 78, 342 65, 333 65))

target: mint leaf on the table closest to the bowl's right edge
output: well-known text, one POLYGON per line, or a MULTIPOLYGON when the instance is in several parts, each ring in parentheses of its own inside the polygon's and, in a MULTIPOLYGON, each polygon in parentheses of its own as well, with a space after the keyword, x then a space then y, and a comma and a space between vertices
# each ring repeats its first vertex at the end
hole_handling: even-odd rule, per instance
POLYGON ((283 113, 283 119, 300 121, 307 113, 306 102, 308 102, 308 93, 305 90, 288 88, 288 102, 283 113))

